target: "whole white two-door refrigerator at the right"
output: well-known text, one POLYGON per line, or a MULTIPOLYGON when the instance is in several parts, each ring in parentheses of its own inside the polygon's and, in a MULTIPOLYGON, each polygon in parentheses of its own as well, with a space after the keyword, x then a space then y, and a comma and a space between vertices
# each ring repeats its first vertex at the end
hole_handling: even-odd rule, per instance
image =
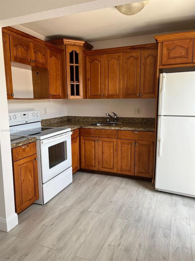
POLYGON ((195 72, 161 73, 156 190, 195 197, 195 72))

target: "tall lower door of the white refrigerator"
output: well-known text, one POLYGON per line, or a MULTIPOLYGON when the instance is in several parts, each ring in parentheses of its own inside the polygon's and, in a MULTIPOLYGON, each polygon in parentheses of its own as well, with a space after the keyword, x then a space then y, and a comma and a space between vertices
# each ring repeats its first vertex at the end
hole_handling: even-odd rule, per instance
POLYGON ((195 117, 158 116, 155 188, 195 197, 195 117))

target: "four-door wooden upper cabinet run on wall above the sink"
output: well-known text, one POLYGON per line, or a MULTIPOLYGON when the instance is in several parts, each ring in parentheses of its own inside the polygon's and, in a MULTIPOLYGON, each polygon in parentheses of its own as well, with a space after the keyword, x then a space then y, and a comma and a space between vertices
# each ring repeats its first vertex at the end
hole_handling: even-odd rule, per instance
POLYGON ((85 51, 87 98, 155 98, 157 44, 85 51))

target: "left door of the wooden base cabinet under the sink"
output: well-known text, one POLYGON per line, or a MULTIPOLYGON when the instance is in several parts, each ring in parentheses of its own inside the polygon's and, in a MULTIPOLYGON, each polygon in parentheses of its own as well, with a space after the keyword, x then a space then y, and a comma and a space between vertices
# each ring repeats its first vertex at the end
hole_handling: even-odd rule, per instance
POLYGON ((81 168, 98 170, 98 138, 80 137, 81 168))

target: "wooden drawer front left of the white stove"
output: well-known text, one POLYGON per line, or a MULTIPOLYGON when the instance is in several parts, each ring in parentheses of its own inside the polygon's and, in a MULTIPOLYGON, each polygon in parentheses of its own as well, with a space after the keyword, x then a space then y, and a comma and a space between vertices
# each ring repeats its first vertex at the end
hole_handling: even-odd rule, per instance
POLYGON ((37 153, 36 142, 25 144, 12 149, 12 161, 26 158, 37 153))

